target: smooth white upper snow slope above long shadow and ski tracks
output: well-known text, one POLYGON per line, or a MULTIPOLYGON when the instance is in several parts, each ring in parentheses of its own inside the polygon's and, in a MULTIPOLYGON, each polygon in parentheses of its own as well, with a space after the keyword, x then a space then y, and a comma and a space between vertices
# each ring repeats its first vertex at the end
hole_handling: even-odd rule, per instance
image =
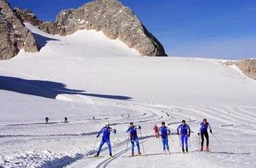
MULTIPOLYGON (((136 51, 101 32, 81 30, 72 36, 52 36, 26 25, 44 46, 39 53, 21 52, 16 59, 0 62, 0 67, 17 72, 11 76, 23 74, 24 79, 60 82, 85 93, 120 95, 147 103, 255 103, 255 81, 219 60, 138 58, 136 51)), ((59 85, 50 84, 50 89, 59 90, 59 85)), ((70 94, 62 96, 83 101, 70 94)))

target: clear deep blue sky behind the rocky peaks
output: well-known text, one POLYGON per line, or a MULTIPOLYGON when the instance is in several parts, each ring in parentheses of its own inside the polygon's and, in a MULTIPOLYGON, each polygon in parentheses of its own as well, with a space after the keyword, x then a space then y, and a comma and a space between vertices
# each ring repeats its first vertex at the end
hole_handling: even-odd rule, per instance
MULTIPOLYGON (((43 21, 90 0, 8 0, 43 21)), ((256 57, 256 0, 122 0, 168 55, 222 59, 256 57)))

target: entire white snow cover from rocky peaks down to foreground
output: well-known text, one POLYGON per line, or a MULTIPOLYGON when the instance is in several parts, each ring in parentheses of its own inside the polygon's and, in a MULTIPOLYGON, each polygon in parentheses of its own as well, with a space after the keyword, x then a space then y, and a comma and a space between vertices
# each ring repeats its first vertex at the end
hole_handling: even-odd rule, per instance
POLYGON ((43 48, 0 62, 0 167, 256 166, 256 83, 237 68, 216 59, 140 57, 94 30, 64 37, 26 26, 43 48), (203 118, 221 141, 210 135, 210 153, 198 152, 203 118), (182 119, 192 129, 189 154, 174 133, 182 119), (162 121, 174 139, 171 155, 152 136, 162 121), (116 157, 104 146, 104 157, 92 159, 105 122, 117 129, 116 157), (127 157, 129 122, 142 126, 146 156, 127 157))

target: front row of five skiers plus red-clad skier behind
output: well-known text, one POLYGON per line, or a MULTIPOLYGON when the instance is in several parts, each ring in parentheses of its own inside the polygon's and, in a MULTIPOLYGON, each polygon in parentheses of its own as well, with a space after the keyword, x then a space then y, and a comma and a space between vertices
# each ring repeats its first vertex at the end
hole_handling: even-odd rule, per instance
MULTIPOLYGON (((210 129, 210 133, 213 133, 212 129, 210 128, 209 122, 207 122, 206 119, 203 119, 203 122, 200 123, 200 128, 199 132, 197 133, 198 136, 201 136, 201 148, 200 151, 203 151, 203 142, 204 142, 204 137, 206 138, 206 151, 209 150, 209 135, 208 135, 208 128, 210 129)), ((139 137, 137 135, 137 130, 140 132, 141 126, 139 125, 136 127, 133 125, 133 122, 130 122, 130 127, 126 130, 127 133, 129 133, 129 138, 130 138, 130 143, 131 143, 131 150, 132 154, 131 156, 134 156, 134 145, 136 144, 137 150, 138 150, 138 155, 141 155, 140 147, 139 147, 139 137)), ((162 147, 164 154, 171 154, 170 149, 169 149, 169 144, 168 144, 168 135, 171 134, 170 129, 165 125, 165 122, 162 122, 162 125, 158 128, 157 125, 153 127, 153 130, 155 132, 155 137, 159 138, 161 137, 162 139, 162 147)), ((117 133, 117 130, 114 128, 110 127, 110 123, 107 122, 104 128, 101 128, 100 132, 98 132, 97 138, 102 135, 101 139, 101 144, 98 148, 98 152, 94 157, 99 157, 99 154, 101 153, 101 148, 103 147, 104 143, 107 143, 108 146, 108 151, 110 154, 110 157, 113 157, 112 151, 111 151, 111 144, 110 144, 110 132, 113 132, 114 134, 117 133)), ((181 143, 181 148, 183 153, 188 152, 188 143, 187 140, 190 138, 190 126, 187 125, 185 120, 182 120, 181 125, 178 126, 177 128, 177 134, 180 139, 181 143)), ((127 140, 129 141, 129 140, 127 140)))

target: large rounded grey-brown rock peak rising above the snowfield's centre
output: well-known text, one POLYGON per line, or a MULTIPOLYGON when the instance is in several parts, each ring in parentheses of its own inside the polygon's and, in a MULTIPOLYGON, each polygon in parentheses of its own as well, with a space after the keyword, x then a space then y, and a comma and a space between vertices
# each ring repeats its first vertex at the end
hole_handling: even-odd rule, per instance
POLYGON ((61 36, 77 30, 101 30, 110 39, 119 39, 136 49, 140 55, 167 56, 162 44, 146 30, 133 11, 117 0, 98 0, 78 9, 61 11, 56 23, 43 23, 39 28, 61 36))

